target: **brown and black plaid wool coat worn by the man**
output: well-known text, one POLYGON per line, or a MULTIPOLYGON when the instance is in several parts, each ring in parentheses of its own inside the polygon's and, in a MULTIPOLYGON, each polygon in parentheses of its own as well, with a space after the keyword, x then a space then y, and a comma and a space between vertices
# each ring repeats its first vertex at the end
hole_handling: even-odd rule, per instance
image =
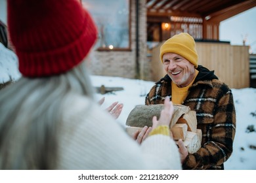
MULTIPOLYGON (((213 71, 202 65, 198 76, 182 103, 196 111, 198 129, 202 129, 202 146, 198 152, 188 154, 182 169, 224 169, 230 157, 236 133, 236 112, 233 95, 226 84, 219 81, 213 71)), ((146 95, 146 105, 163 103, 171 99, 171 78, 161 78, 146 95)))

